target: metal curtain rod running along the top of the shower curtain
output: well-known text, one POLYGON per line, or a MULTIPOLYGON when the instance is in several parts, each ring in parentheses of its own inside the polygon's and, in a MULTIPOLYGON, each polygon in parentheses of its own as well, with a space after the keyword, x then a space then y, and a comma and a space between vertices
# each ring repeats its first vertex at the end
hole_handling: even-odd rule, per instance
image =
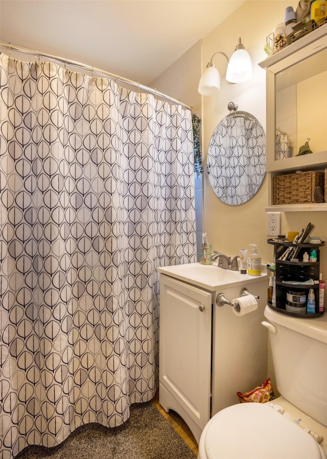
POLYGON ((64 59, 63 57, 52 56, 51 54, 39 53, 38 51, 33 51, 33 50, 28 49, 28 48, 23 48, 21 46, 12 45, 11 43, 9 43, 9 42, 7 43, 7 42, 4 42, 4 41, 0 42, 0 48, 7 49, 9 51, 9 56, 10 56, 10 51, 17 51, 19 53, 30 54, 31 56, 35 56, 35 57, 38 57, 38 58, 41 58, 41 59, 51 59, 51 60, 60 62, 63 65, 69 65, 69 67, 74 67, 74 68, 77 68, 79 70, 86 70, 87 72, 91 72, 91 74, 95 74, 96 73, 97 75, 100 75, 100 76, 106 76, 106 77, 112 78, 114 80, 118 80, 118 81, 121 81, 123 83, 130 84, 131 86, 134 86, 135 88, 141 89, 142 91, 144 91, 146 93, 153 94, 155 96, 160 97, 161 99, 165 99, 167 101, 170 101, 170 102, 176 103, 178 105, 181 105, 184 108, 189 108, 189 110, 192 110, 192 107, 190 105, 186 105, 183 102, 181 102, 180 100, 173 99, 172 97, 167 96, 164 93, 160 93, 159 91, 156 91, 153 88, 149 88, 149 86, 144 86, 143 84, 140 84, 139 82, 132 81, 132 80, 129 80, 127 78, 123 78, 123 77, 118 76, 118 75, 114 75, 113 73, 106 72, 105 70, 96 69, 96 68, 91 67, 90 65, 87 65, 87 64, 82 64, 80 62, 75 62, 74 60, 64 59))

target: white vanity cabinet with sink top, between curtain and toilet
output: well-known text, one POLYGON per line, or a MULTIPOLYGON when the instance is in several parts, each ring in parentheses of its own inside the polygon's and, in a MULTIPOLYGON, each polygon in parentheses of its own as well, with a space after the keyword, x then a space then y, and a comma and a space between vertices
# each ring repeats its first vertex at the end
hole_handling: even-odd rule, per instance
POLYGON ((158 271, 159 403, 176 411, 199 442, 215 413, 239 403, 237 391, 251 390, 267 378, 268 338, 261 322, 268 276, 200 264, 158 271), (202 268, 203 279, 192 266, 202 268), (260 296, 256 311, 238 317, 229 305, 216 305, 219 293, 230 301, 243 287, 260 296))

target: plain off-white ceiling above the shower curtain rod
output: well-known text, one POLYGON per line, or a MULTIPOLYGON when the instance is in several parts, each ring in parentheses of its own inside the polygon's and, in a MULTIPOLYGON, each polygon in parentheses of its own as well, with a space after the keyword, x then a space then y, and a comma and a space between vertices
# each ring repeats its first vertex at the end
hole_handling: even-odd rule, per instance
POLYGON ((0 0, 0 39, 150 86, 244 1, 0 0))

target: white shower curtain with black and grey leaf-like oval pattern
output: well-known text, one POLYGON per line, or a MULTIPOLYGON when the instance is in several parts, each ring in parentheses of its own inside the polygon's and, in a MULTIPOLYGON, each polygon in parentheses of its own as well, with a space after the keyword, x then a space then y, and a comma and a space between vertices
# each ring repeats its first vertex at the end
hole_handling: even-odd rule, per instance
POLYGON ((158 379, 156 268, 196 261, 189 110, 1 55, 0 451, 114 427, 158 379))

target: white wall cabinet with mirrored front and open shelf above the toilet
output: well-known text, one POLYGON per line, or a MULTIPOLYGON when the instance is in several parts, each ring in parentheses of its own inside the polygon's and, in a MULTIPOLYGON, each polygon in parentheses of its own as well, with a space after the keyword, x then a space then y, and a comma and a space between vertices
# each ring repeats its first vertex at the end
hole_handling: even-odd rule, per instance
MULTIPOLYGON (((273 204, 273 179, 327 168, 327 24, 259 63, 267 81, 266 211, 327 210, 327 202, 273 204), (287 139, 285 156, 277 139, 287 139), (296 156, 307 140, 312 153, 296 156)), ((325 199, 325 201, 327 201, 325 199)))

